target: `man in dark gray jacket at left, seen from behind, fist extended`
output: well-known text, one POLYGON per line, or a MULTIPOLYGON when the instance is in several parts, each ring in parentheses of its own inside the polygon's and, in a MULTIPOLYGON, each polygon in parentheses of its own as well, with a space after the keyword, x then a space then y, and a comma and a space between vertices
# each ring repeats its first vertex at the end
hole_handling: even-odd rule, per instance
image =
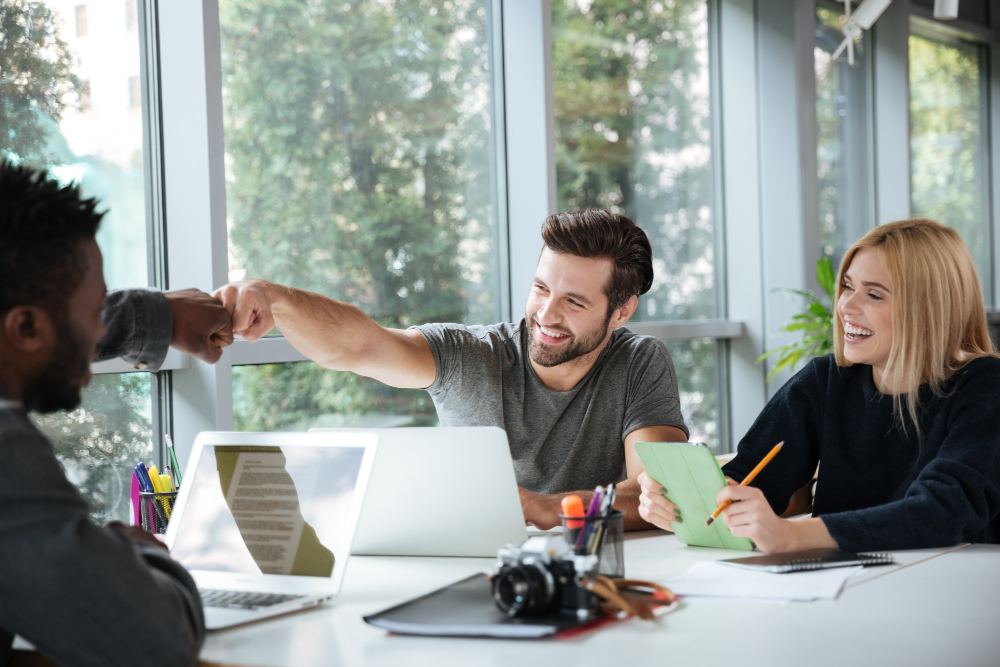
POLYGON ((102 213, 76 187, 0 160, 0 665, 15 634, 63 665, 191 665, 194 581, 139 528, 93 524, 31 411, 70 410, 96 358, 156 370, 173 345, 214 363, 228 311, 197 290, 106 294, 102 213))

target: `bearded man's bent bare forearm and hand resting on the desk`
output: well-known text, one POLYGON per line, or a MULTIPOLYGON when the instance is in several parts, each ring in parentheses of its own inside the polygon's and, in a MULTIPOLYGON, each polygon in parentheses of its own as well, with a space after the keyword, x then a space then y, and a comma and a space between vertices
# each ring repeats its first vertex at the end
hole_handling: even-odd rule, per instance
MULTIPOLYGON (((635 443, 687 442, 687 439, 684 431, 674 426, 648 426, 632 431, 625 438, 625 473, 628 478, 615 487, 615 509, 625 512, 625 530, 649 530, 656 527, 639 516, 641 489, 636 478, 643 471, 643 467, 635 451, 635 443)), ((548 530, 561 523, 559 512, 562 509, 563 498, 576 494, 583 499, 583 506, 587 507, 594 495, 593 489, 567 493, 533 493, 527 489, 520 489, 520 492, 524 520, 542 530, 548 530)))

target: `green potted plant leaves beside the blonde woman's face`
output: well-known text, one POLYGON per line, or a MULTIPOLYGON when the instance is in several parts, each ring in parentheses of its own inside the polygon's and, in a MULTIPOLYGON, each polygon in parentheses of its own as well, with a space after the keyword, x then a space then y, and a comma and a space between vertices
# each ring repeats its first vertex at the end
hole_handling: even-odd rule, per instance
POLYGON ((768 350, 757 358, 757 363, 760 363, 772 355, 778 355, 777 361, 767 373, 768 382, 774 382, 775 376, 786 368, 794 371, 800 361, 833 352, 833 298, 837 285, 829 257, 816 263, 816 281, 823 289, 827 303, 823 303, 812 290, 780 290, 789 298, 797 296, 805 299, 805 308, 794 315, 791 322, 778 329, 779 334, 799 334, 801 338, 794 343, 768 350))

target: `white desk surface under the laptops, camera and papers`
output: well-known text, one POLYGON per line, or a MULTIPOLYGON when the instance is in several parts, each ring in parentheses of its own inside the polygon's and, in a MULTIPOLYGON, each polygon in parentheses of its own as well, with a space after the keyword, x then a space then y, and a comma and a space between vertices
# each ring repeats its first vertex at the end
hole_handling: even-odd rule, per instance
MULTIPOLYGON (((626 574, 641 579, 745 555, 684 547, 659 531, 626 539, 626 574)), ((909 566, 868 569, 835 602, 689 599, 657 623, 633 619, 573 640, 533 641, 389 635, 361 620, 486 571, 489 559, 352 557, 333 604, 210 633, 202 659, 282 667, 1000 664, 1000 546, 896 556, 909 566)))

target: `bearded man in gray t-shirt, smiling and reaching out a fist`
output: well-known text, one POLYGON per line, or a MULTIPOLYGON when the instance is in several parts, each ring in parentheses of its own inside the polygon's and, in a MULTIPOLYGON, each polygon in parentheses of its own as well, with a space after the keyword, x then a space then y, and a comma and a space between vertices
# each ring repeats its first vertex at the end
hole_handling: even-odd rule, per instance
POLYGON ((277 325, 310 359, 394 387, 426 389, 445 426, 507 432, 525 520, 559 523, 560 502, 620 482, 626 528, 639 516, 641 441, 685 441, 677 379, 658 340, 622 328, 653 282, 646 234, 597 209, 549 216, 518 324, 378 326, 358 308, 261 280, 216 292, 238 335, 277 325))

